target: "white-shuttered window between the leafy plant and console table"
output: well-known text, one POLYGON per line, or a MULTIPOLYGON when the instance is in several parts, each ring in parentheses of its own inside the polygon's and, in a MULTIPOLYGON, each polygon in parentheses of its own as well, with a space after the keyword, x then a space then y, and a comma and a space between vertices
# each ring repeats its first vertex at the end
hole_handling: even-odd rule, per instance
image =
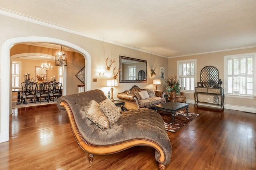
POLYGON ((177 65, 181 91, 194 92, 196 59, 177 61, 177 65))

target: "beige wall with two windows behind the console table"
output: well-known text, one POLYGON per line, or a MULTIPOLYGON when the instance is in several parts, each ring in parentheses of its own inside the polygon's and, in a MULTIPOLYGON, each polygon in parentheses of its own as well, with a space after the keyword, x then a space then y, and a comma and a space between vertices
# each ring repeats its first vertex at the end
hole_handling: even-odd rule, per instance
MULTIPOLYGON (((205 66, 215 66, 219 71, 219 78, 221 78, 222 82, 224 83, 226 80, 224 77, 224 56, 244 54, 244 53, 255 53, 255 52, 256 52, 256 48, 248 48, 248 49, 240 49, 240 50, 232 50, 232 51, 224 51, 224 52, 217 52, 217 53, 171 58, 171 59, 168 59, 168 65, 169 65, 168 75, 169 76, 177 75, 177 61, 196 59, 196 61, 197 61, 196 62, 196 64, 197 64, 197 70, 196 70, 197 82, 200 82, 200 72, 201 72, 202 68, 204 68, 205 66)), ((224 84, 222 84, 222 87, 224 87, 224 84)), ((189 100, 194 100, 194 93, 186 93, 186 98, 189 100)), ((210 98, 210 100, 212 100, 213 96, 202 96, 201 99, 204 101, 207 101, 206 98, 210 98)), ((224 105, 226 104, 226 105, 229 105, 230 107, 241 106, 241 107, 256 108, 255 102, 256 102, 256 99, 253 97, 234 97, 234 96, 226 95, 225 100, 224 100, 224 105)))

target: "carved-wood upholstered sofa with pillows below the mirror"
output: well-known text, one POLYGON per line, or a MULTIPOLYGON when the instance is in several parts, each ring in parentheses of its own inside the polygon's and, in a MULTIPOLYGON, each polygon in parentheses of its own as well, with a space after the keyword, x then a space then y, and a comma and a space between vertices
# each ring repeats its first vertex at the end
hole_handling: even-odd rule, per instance
POLYGON ((141 89, 138 86, 134 85, 130 90, 118 93, 117 97, 120 100, 125 101, 125 108, 130 110, 139 108, 150 108, 158 104, 165 103, 166 100, 164 98, 164 94, 165 92, 163 91, 156 91, 149 88, 141 89), (144 94, 148 94, 148 96, 144 94))

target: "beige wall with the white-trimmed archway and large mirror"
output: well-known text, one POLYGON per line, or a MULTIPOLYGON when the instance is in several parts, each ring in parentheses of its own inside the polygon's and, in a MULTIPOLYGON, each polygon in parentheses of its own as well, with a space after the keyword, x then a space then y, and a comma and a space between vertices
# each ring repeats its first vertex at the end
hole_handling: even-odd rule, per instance
MULTIPOLYGON (((84 37, 82 35, 77 35, 74 33, 68 33, 65 31, 61 31, 59 29, 50 28, 47 26, 39 25, 36 23, 31 23, 24 20, 19 20, 16 18, 0 15, 0 21, 1 21, 1 27, 0 27, 0 59, 2 57, 10 57, 16 53, 10 53, 10 56, 2 56, 3 53, 3 45, 7 40, 10 40, 12 38, 16 37, 50 37, 54 39, 59 39, 61 41, 67 41, 69 43, 72 43, 81 49, 84 49, 88 52, 91 58, 91 70, 86 70, 90 72, 91 74, 91 89, 101 89, 103 90, 104 94, 107 96, 108 90, 110 90, 109 87, 106 87, 106 80, 108 78, 111 78, 113 76, 113 68, 116 66, 119 67, 119 56, 125 56, 125 57, 131 57, 136 59, 142 59, 148 61, 148 68, 147 68, 147 77, 148 81, 143 83, 119 83, 118 87, 114 88, 114 98, 116 98, 116 95, 118 92, 123 92, 124 90, 130 89, 133 85, 137 85, 140 88, 155 88, 155 86, 152 84, 152 81, 154 78, 158 78, 159 75, 159 66, 165 67, 168 69, 168 59, 163 57, 154 56, 149 53, 144 53, 142 51, 137 51, 135 49, 130 49, 126 47, 121 47, 118 45, 113 45, 110 43, 103 43, 102 41, 91 39, 88 37, 84 37), (111 59, 115 59, 116 62, 112 64, 112 68, 110 71, 106 70, 106 59, 107 57, 110 57, 111 59), (150 76, 150 67, 153 67, 157 65, 156 68, 156 75, 150 76), (99 76, 97 69, 98 68, 104 68, 105 74, 104 76, 99 76), (92 82, 92 78, 97 78, 97 82, 92 82)), ((51 43, 51 42, 45 42, 45 43, 51 43)), ((15 46, 14 46, 15 47, 15 46)), ((33 50, 37 47, 30 47, 30 50, 33 50)), ((6 49, 5 49, 6 50, 6 49)), ((52 53, 52 51, 48 51, 45 49, 41 49, 42 53, 52 53)), ((76 50, 76 49, 73 49, 76 50)), ((18 51, 22 51, 19 53, 27 53, 28 51, 20 48, 18 51)), ((54 51, 55 52, 55 51, 54 51)), ((69 55, 69 54, 68 54, 69 55)), ((2 61, 1 61, 2 62, 2 61)), ((67 66, 67 94, 76 93, 77 92, 77 84, 81 84, 81 82, 74 78, 70 80, 70 77, 74 77, 74 75, 82 68, 81 66, 84 65, 86 61, 79 60, 75 61, 74 58, 68 58, 68 66, 67 66), (71 60, 70 60, 71 59, 71 60), (80 65, 78 65, 80 64, 80 65), (74 80, 74 81, 73 81, 74 80)), ((2 63, 0 64, 2 67, 2 63)), ((6 71, 6 70, 5 70, 6 71)), ((2 74, 2 68, 0 70, 2 74)), ((31 71, 32 72, 32 71, 31 71)), ((118 76, 119 80, 119 76, 118 76)), ((2 77, 0 77, 0 82, 2 84, 2 77)), ((0 87, 1 89, 1 87, 0 87)), ((160 85, 159 90, 164 90, 164 84, 160 85)), ((2 96, 2 89, 0 90, 0 95, 2 96)), ((2 98, 1 98, 2 100, 2 98)), ((1 110, 2 107, 8 107, 8 106, 2 106, 2 101, 0 101, 1 104, 1 110)), ((2 115, 2 113, 0 113, 2 115)), ((1 121, 2 122, 2 121, 1 121)))

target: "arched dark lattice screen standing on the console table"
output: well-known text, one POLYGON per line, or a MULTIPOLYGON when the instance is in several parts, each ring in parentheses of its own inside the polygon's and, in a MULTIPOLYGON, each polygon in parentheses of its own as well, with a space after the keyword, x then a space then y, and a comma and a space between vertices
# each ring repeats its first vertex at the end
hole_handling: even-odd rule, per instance
POLYGON ((201 82, 204 87, 218 88, 219 72, 214 66, 205 66, 201 70, 201 82))

